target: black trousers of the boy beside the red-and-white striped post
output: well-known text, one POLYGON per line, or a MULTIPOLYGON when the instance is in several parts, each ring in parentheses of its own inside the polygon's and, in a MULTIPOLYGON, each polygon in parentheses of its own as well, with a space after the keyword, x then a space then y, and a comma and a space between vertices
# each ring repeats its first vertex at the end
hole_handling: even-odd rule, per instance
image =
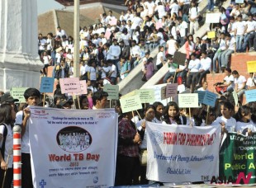
POLYGON ((31 154, 21 153, 21 187, 33 188, 31 172, 31 154))

